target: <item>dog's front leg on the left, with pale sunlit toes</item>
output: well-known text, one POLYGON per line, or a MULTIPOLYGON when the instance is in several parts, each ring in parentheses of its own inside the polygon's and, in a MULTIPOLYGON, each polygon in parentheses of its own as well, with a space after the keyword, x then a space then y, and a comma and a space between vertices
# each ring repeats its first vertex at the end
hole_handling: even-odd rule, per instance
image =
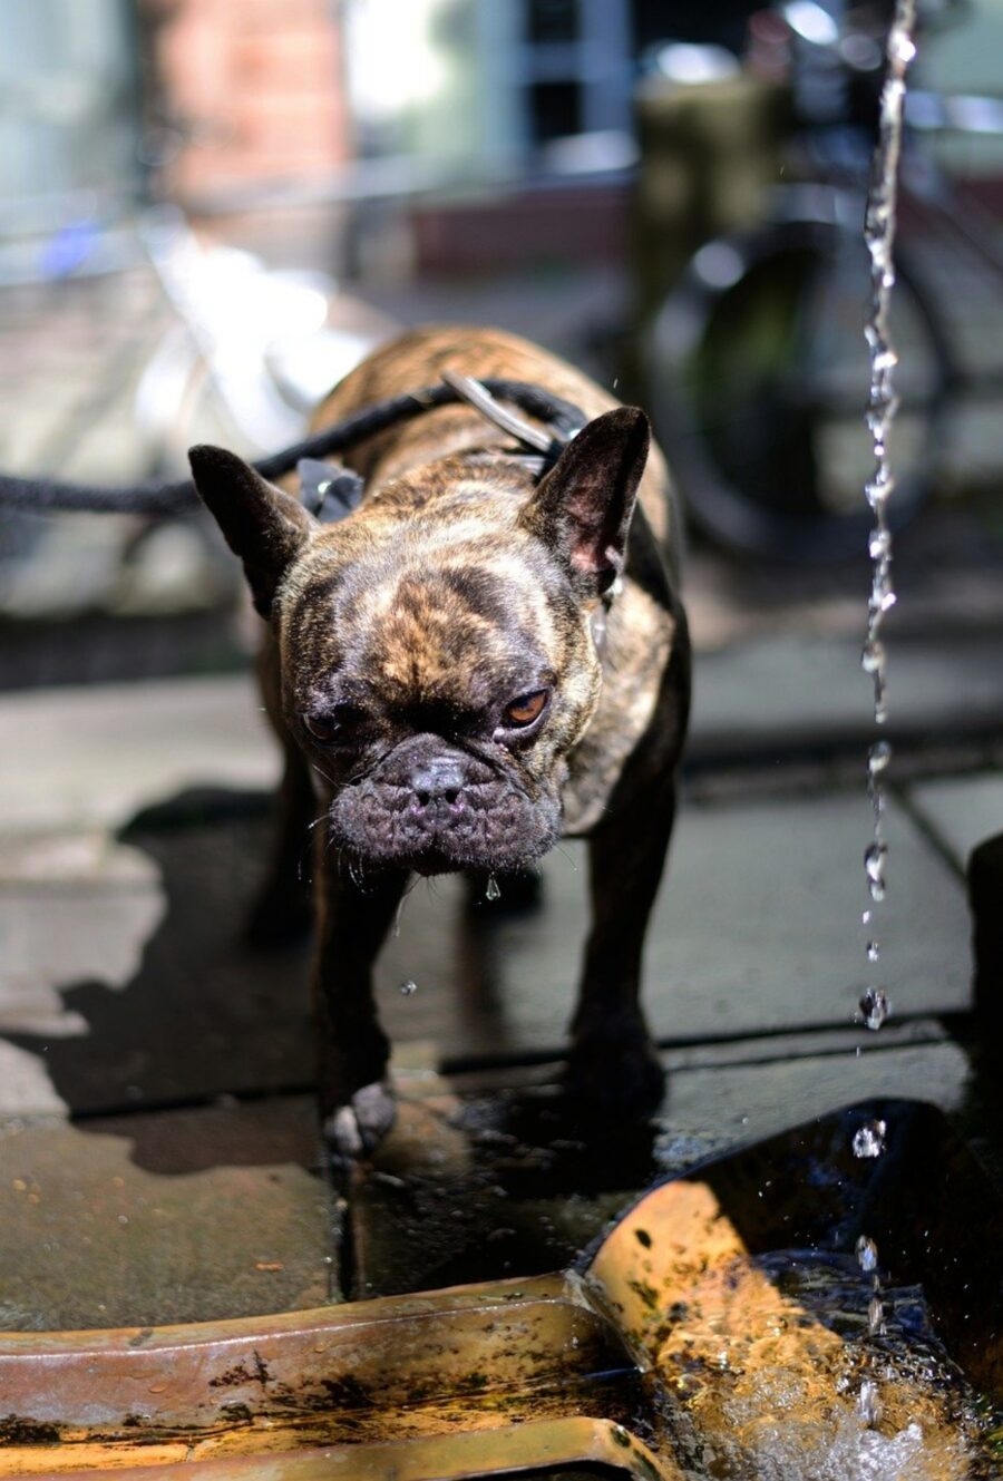
POLYGON ((404 892, 404 871, 367 874, 327 857, 319 871, 314 1022, 324 1136, 344 1160, 370 1152, 394 1121, 372 967, 404 892))

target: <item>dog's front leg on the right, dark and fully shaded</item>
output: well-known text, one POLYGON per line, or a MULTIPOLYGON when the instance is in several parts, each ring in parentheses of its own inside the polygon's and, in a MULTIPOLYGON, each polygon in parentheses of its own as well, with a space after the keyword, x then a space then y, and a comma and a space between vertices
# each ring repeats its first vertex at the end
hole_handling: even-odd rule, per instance
POLYGON ((593 926, 572 1020, 569 1089, 610 1115, 647 1115, 664 1094, 640 974, 674 816, 674 775, 655 776, 619 800, 588 843, 593 926))

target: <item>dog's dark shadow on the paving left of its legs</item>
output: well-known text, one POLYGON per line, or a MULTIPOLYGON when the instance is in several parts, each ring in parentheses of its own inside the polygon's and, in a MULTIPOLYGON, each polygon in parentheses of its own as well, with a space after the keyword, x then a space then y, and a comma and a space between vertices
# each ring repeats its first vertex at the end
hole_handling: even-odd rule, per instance
MULTIPOLYGON (((154 865, 164 900, 133 976, 124 986, 99 977, 59 985, 67 1010, 86 1023, 83 1035, 7 1035, 43 1056, 79 1126, 132 1112, 139 1166, 148 1166, 144 1129, 154 1118, 136 1112, 310 1083, 307 948, 265 957, 241 939, 268 812, 265 794, 206 788, 138 813, 119 841, 154 865)), ((258 1160, 250 1148, 219 1154, 218 1161, 258 1160)), ((193 1145, 175 1170, 201 1169, 206 1155, 193 1145)), ((161 1160, 161 1148, 151 1146, 150 1161, 161 1160)))

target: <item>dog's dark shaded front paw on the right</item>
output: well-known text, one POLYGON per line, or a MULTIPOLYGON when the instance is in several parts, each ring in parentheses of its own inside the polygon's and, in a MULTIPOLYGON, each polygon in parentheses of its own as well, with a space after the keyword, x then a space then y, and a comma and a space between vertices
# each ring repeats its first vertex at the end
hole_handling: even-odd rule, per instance
POLYGON ((612 1028, 572 1047, 564 1087, 590 1117, 644 1120, 665 1097, 665 1071, 643 1029, 612 1028))

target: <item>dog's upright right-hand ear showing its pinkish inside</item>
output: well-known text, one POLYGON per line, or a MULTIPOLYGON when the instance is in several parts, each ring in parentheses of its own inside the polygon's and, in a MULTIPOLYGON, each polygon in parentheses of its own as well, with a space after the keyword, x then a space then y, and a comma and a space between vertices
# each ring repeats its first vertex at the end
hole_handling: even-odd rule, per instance
POLYGON ((636 406, 604 412, 570 440, 523 511, 523 527, 566 563, 581 595, 607 591, 624 569, 650 443, 636 406))

